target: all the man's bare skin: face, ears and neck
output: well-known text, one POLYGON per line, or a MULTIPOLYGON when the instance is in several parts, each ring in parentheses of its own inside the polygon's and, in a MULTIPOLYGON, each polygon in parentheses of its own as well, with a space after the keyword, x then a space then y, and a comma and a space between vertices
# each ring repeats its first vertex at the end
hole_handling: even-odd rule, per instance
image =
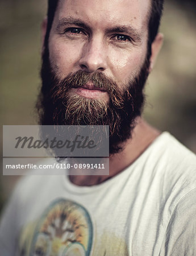
MULTIPOLYGON (((48 45, 49 59, 59 79, 80 70, 99 71, 113 79, 120 90, 125 89, 147 55, 149 10, 150 0, 60 0, 48 45)), ((158 34, 152 43, 150 70, 161 45, 162 35, 158 34)), ((106 93, 97 97, 108 100, 106 93)), ((110 179, 134 162, 159 134, 137 118, 124 150, 110 158, 109 176, 70 176, 70 180, 77 185, 94 185, 110 179)))

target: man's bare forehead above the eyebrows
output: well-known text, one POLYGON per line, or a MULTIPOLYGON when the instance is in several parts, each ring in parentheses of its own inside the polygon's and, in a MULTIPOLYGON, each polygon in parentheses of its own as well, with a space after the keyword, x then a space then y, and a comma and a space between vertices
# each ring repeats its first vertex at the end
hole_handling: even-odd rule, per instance
POLYGON ((96 28, 131 24, 144 30, 150 9, 151 0, 59 0, 55 22, 72 16, 96 28))

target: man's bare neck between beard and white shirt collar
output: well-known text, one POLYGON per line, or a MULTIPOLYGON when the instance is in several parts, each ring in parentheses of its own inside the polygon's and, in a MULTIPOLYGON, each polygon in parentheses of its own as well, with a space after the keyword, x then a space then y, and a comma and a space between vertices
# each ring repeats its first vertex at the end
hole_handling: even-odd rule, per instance
POLYGON ((96 185, 111 179, 130 166, 149 147, 149 145, 160 135, 160 131, 150 126, 142 118, 137 118, 137 123, 132 131, 132 137, 124 144, 124 149, 118 154, 110 157, 109 175, 103 176, 69 176, 70 181, 76 185, 96 185))

